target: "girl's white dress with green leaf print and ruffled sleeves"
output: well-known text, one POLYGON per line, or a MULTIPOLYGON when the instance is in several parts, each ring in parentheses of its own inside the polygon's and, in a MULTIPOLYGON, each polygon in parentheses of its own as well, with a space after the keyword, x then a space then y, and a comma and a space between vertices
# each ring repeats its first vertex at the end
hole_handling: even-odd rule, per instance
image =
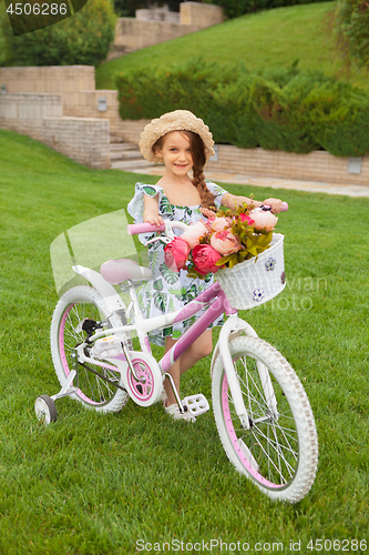
MULTIPOLYGON (((206 181, 207 189, 215 195, 215 205, 219 206, 222 196, 227 192, 219 185, 206 181)), ((160 185, 135 184, 135 195, 127 205, 129 213, 135 223, 143 222, 144 195, 156 196, 158 194, 158 213, 164 220, 176 220, 186 224, 206 220, 201 212, 201 206, 177 206, 171 204, 163 189, 160 185)), ((176 235, 181 235, 181 230, 175 230, 176 235)), ((141 243, 145 244, 148 239, 156 236, 156 233, 142 233, 139 235, 141 243)), ((150 268, 153 278, 143 284, 139 293, 141 311, 145 319, 160 316, 167 312, 182 309, 193 301, 199 293, 213 284, 213 274, 208 274, 205 280, 187 278, 187 272, 171 271, 164 260, 164 243, 155 241, 148 245, 150 268)), ((184 322, 177 322, 163 330, 155 330, 150 334, 151 343, 164 345, 165 337, 171 335, 178 339, 182 333, 189 327, 202 314, 197 312, 184 322)), ((213 325, 222 325, 223 316, 218 317, 213 325)))

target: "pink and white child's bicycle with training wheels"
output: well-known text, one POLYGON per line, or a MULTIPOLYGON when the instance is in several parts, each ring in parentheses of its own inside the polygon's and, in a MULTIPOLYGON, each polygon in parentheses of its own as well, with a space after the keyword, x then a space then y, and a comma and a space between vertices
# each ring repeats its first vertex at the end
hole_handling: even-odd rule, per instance
MULTIPOLYGON (((182 222, 166 221, 161 228, 143 223, 129 225, 127 230, 130 234, 155 232, 155 235, 162 231, 161 238, 168 242, 174 236, 173 229, 185 228, 182 222)), ((157 239, 153 236, 152 241, 157 239)), ((68 248, 71 251, 70 242, 68 248)), ((60 245, 58 249, 61 251, 60 245)), ((278 275, 264 300, 258 299, 260 287, 255 289, 256 305, 285 286, 283 235, 275 235, 271 248, 249 264, 250 276, 257 265, 268 275, 275 272, 278 275)), ((136 294, 137 285, 152 275, 148 268, 120 259, 104 262, 100 272, 80 264, 74 264, 73 271, 91 285, 68 289, 73 285, 68 283, 57 304, 51 351, 61 390, 51 397, 40 395, 35 400, 39 420, 45 424, 55 421, 55 401, 66 395, 103 413, 120 411, 130 398, 143 407, 151 406, 160 402, 165 377, 172 383, 180 410, 199 416, 209 408, 207 400, 202 394, 181 400, 168 370, 192 341, 225 313, 227 320, 214 349, 211 375, 213 411, 226 455, 238 472, 273 500, 296 503, 308 493, 318 462, 317 433, 308 397, 286 359, 238 316, 234 307, 237 303, 229 301, 232 286, 229 297, 224 291, 229 282, 227 270, 217 272, 218 281, 182 310, 148 320, 141 313, 136 294), (120 287, 121 294, 115 287, 120 287), (127 307, 123 293, 130 297, 127 307), (156 361, 147 333, 187 320, 204 307, 198 320, 156 361), (134 334, 140 351, 133 347, 134 334)), ((239 286, 235 289, 239 294, 239 286)))

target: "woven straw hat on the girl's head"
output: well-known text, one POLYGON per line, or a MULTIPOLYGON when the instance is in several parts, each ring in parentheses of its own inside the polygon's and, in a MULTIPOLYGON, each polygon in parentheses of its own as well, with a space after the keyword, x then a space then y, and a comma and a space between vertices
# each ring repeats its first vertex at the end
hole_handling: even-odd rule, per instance
POLYGON ((160 162, 161 159, 153 152, 155 142, 171 131, 193 131, 197 133, 204 142, 205 157, 208 160, 215 154, 213 150, 213 135, 203 120, 196 118, 188 110, 175 110, 164 113, 150 122, 141 133, 140 149, 142 155, 150 162, 160 162))

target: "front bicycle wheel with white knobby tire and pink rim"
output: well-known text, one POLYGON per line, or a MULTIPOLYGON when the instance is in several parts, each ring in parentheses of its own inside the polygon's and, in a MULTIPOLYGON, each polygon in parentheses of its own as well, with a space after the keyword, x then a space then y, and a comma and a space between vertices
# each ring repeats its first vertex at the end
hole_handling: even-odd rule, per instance
POLYGON ((242 427, 218 354, 213 374, 215 422, 229 461, 274 500, 297 503, 310 490, 318 441, 308 397, 296 373, 258 337, 229 342, 250 427, 242 427))

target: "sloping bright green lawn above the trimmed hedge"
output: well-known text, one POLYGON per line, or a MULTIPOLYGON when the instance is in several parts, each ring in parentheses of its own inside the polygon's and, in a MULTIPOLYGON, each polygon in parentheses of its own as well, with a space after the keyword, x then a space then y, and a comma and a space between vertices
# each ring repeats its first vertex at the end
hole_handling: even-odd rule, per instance
POLYGON ((244 61, 249 70, 287 67, 299 59, 304 70, 319 69, 369 88, 369 71, 351 68, 347 73, 332 31, 335 9, 336 2, 277 8, 139 50, 98 68, 96 88, 115 89, 114 74, 119 71, 166 68, 199 56, 219 64, 244 61))

